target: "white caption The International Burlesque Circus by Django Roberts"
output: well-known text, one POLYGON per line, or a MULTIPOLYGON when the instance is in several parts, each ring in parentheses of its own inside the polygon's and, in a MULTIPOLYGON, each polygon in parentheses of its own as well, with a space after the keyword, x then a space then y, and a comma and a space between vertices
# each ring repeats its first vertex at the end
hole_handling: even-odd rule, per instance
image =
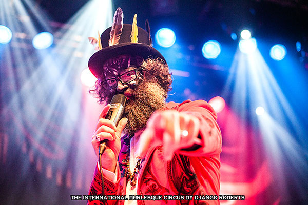
POLYGON ((245 195, 71 195, 71 200, 245 200, 245 195))

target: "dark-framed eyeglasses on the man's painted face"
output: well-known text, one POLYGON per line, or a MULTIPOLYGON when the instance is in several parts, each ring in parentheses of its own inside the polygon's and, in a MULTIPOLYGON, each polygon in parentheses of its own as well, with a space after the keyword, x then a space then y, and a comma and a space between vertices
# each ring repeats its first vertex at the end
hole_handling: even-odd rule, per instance
POLYGON ((136 80, 137 78, 137 71, 140 71, 141 67, 127 71, 118 77, 113 77, 107 80, 104 80, 101 82, 101 85, 105 90, 111 90, 113 88, 116 88, 118 86, 118 81, 120 80, 122 84, 130 83, 133 80, 136 80))

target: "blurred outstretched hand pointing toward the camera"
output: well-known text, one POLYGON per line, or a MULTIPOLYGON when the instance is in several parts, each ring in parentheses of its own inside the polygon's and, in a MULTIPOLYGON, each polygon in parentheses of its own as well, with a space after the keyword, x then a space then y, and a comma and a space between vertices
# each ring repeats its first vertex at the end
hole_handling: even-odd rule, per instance
POLYGON ((175 151, 201 143, 199 129, 195 116, 176 110, 157 111, 140 136, 139 157, 143 158, 149 147, 163 145, 165 159, 171 160, 175 151))

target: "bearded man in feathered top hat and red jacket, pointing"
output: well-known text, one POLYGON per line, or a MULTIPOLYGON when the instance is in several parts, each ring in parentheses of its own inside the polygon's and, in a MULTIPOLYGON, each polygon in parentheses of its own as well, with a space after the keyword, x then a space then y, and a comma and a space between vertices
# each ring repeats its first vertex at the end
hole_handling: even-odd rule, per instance
POLYGON ((148 24, 147 31, 137 27, 136 15, 133 25, 123 24, 120 8, 113 21, 98 41, 102 49, 89 59, 98 78, 91 92, 100 103, 115 94, 127 100, 117 126, 105 119, 109 104, 99 116, 91 142, 98 157, 103 140, 106 150, 89 195, 127 197, 88 204, 219 204, 192 197, 219 195, 222 140, 215 111, 203 100, 166 103, 171 74, 151 46, 148 24))

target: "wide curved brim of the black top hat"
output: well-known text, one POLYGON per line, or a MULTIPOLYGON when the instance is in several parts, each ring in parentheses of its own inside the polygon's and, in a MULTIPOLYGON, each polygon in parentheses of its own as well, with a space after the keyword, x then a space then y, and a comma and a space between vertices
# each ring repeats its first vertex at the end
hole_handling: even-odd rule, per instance
POLYGON ((143 59, 150 57, 153 57, 153 59, 161 58, 166 62, 163 55, 155 48, 146 44, 130 42, 108 46, 94 53, 89 59, 89 69, 98 78, 103 72, 105 61, 120 55, 140 56, 143 59))

